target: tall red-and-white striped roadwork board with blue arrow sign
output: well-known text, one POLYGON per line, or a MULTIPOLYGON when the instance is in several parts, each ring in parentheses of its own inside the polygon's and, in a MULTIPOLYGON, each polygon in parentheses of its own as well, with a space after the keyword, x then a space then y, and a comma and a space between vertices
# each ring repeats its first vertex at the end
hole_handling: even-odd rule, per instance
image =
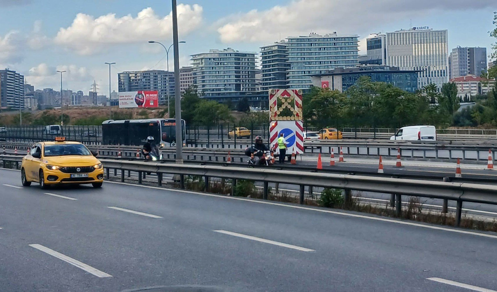
POLYGON ((283 134, 290 153, 304 152, 301 89, 269 89, 269 121, 271 147, 283 134))

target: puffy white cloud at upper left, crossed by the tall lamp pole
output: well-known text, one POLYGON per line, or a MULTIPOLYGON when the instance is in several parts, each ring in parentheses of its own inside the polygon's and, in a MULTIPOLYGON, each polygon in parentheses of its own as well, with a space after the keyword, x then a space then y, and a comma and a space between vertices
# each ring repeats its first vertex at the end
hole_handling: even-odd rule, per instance
MULTIPOLYGON (((202 10, 202 6, 198 4, 177 5, 179 34, 186 34, 200 26, 202 10)), ((170 38, 171 19, 171 13, 160 17, 150 7, 140 11, 136 17, 131 14, 116 17, 116 14, 109 13, 95 18, 78 13, 70 27, 59 30, 55 42, 80 55, 90 55, 101 51, 106 45, 170 38)))

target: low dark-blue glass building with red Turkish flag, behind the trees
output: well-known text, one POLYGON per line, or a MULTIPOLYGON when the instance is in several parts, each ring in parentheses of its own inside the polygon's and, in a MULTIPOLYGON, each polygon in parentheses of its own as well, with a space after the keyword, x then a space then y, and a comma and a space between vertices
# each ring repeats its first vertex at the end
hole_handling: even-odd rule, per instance
POLYGON ((311 76, 314 86, 328 87, 343 92, 354 85, 361 76, 369 76, 373 82, 385 82, 402 90, 417 90, 417 73, 414 70, 399 70, 383 65, 359 66, 356 68, 336 68, 326 73, 311 76))

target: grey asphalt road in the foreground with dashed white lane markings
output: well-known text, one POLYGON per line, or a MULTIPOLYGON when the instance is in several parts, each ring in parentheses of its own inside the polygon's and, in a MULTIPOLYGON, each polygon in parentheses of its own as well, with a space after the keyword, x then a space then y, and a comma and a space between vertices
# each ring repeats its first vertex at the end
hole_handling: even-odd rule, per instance
POLYGON ((489 233, 109 182, 22 188, 9 170, 0 189, 0 291, 497 289, 489 233))

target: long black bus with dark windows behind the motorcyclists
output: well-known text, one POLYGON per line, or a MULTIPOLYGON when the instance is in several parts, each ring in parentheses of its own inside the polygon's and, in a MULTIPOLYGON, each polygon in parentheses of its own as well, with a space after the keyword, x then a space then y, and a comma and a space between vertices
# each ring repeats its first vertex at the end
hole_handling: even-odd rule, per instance
MULTIPOLYGON (((182 143, 186 143, 185 121, 181 120, 182 143)), ((102 144, 137 145, 147 142, 147 137, 161 147, 176 145, 175 119, 107 120, 102 122, 102 144)))

